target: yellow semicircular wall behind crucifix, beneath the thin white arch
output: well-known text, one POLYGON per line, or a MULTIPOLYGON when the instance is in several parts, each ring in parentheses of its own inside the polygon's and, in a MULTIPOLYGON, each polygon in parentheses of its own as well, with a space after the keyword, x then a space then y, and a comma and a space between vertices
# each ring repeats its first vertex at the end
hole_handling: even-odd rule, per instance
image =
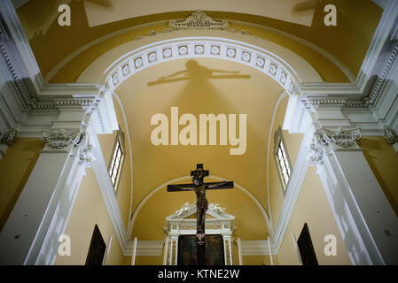
MULTIPOLYGON (((207 178, 207 181, 220 180, 207 178)), ((179 182, 188 183, 191 182, 191 178, 181 179, 179 182)), ((266 239, 269 231, 261 210, 241 188, 235 182, 235 187, 228 191, 209 190, 207 200, 209 203, 219 203, 227 213, 235 216, 234 227, 237 229, 234 237, 246 241, 266 239)), ((194 201, 193 192, 169 193, 166 186, 161 186, 143 203, 135 215, 132 239, 135 237, 147 241, 163 239, 165 234, 160 227, 166 226, 165 218, 179 210, 184 203, 191 204, 194 201)))

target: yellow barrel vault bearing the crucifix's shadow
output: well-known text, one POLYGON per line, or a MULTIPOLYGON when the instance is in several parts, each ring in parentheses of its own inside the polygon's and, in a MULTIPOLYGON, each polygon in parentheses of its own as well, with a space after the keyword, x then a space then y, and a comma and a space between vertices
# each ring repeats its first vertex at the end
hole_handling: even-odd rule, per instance
MULTIPOLYGON (((186 176, 198 163, 205 164, 212 175, 237 181, 266 208, 269 125, 282 92, 277 81, 250 66, 213 58, 169 61, 148 67, 125 80, 116 93, 126 113, 132 144, 133 210, 154 187, 186 176), (176 76, 180 80, 160 80, 187 70, 187 65, 189 72, 176 76), (150 124, 152 116, 163 113, 170 120, 172 106, 178 107, 180 116, 193 114, 198 123, 199 114, 246 114, 246 152, 230 155, 230 148, 236 146, 229 142, 227 145, 217 142, 212 146, 153 145, 151 133, 156 126, 150 124)), ((180 126, 180 130, 182 128, 180 126)), ((229 197, 227 190, 221 194, 229 197)), ((176 209, 182 204, 168 203, 176 209)))

